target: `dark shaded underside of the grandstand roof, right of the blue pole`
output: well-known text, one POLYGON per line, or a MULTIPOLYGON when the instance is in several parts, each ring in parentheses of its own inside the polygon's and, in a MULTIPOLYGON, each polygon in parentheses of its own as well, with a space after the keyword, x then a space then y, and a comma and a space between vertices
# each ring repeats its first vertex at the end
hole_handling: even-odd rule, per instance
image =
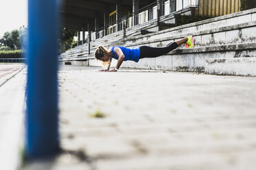
POLYGON ((94 31, 104 26, 104 17, 109 22, 108 16, 117 4, 121 10, 133 12, 133 1, 138 1, 139 8, 143 8, 156 0, 62 0, 59 10, 62 27, 94 31))

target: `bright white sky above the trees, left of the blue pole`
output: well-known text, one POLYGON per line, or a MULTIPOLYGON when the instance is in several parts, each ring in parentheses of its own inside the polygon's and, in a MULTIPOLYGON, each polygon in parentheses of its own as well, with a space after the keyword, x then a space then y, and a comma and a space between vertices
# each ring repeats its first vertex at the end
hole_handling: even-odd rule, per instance
POLYGON ((0 37, 28 25, 28 0, 0 0, 0 37))

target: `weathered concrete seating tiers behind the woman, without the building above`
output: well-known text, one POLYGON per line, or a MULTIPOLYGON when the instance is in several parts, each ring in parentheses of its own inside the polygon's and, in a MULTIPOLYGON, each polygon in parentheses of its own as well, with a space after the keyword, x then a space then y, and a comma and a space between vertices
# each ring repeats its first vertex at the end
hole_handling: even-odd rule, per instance
MULTIPOLYGON (((174 16, 174 14, 173 14, 174 16)), ((165 16, 162 21, 171 21, 173 16, 165 16)), ((224 75, 256 75, 256 9, 237 12, 207 19, 196 23, 180 25, 162 31, 142 35, 140 30, 153 30, 156 21, 136 25, 127 29, 127 36, 122 38, 122 31, 110 34, 91 42, 92 53, 88 55, 87 44, 81 45, 61 55, 61 61, 74 59, 87 60, 90 66, 100 66, 93 53, 98 45, 111 47, 122 45, 133 47, 149 45, 163 47, 171 41, 193 35, 195 48, 179 47, 158 58, 145 58, 140 62, 124 62, 122 67, 139 69, 159 69, 169 71, 198 71, 224 75)), ((74 62, 72 64, 79 64, 74 62)), ((115 66, 116 60, 112 62, 115 66)))

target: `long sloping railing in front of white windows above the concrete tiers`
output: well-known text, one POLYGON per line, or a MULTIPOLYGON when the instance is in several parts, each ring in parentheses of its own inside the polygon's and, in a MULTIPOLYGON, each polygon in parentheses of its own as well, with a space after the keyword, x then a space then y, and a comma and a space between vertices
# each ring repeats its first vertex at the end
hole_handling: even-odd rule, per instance
POLYGON ((160 19, 160 16, 168 15, 178 10, 182 10, 189 6, 198 6, 198 0, 169 0, 169 1, 155 1, 140 10, 123 16, 122 18, 96 29, 87 35, 88 42, 90 40, 96 40, 102 38, 108 34, 125 30, 135 25, 140 25, 151 21, 153 19, 160 19))

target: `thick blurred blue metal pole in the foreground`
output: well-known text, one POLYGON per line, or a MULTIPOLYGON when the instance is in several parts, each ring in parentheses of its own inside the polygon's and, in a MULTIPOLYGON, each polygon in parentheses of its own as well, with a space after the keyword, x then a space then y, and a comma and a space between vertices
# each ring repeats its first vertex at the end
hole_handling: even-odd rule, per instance
POLYGON ((58 0, 28 0, 25 149, 32 159, 54 156, 59 149, 57 38, 58 0))

